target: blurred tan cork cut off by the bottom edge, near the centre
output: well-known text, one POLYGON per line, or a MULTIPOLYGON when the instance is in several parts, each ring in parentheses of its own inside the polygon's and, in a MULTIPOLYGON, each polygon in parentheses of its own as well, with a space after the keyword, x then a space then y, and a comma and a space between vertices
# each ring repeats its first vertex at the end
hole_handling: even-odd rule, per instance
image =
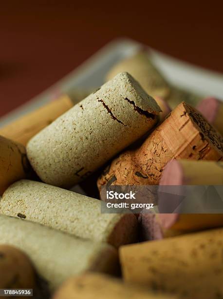
POLYGON ((147 288, 98 273, 85 273, 68 279, 53 299, 174 299, 175 296, 151 292, 147 288))

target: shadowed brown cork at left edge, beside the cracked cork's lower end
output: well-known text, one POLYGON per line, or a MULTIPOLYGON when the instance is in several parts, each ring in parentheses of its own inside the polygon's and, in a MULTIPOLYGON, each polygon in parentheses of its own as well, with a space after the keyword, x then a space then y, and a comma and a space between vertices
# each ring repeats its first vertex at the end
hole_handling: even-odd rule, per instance
POLYGON ((0 136, 0 195, 9 185, 31 174, 25 147, 0 136))

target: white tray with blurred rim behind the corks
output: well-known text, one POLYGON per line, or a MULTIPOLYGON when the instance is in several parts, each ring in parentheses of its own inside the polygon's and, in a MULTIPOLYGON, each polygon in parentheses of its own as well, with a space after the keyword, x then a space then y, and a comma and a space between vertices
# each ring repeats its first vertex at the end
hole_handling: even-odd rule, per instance
MULTIPOLYGON (((136 52, 141 46, 144 45, 128 39, 118 39, 108 43, 55 85, 0 118, 0 127, 75 87, 91 88, 102 85, 110 67, 136 52)), ((151 48, 150 50, 153 63, 163 72, 169 82, 205 96, 223 99, 223 74, 184 63, 151 48)))

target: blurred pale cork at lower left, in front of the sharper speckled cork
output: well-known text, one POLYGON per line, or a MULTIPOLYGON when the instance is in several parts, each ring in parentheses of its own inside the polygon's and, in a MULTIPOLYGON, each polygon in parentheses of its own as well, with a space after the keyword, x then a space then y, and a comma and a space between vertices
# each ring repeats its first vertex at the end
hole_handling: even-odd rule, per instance
POLYGON ((5 215, 0 215, 0 228, 1 244, 13 245, 24 251, 51 289, 72 275, 87 270, 110 273, 117 267, 117 252, 106 243, 75 238, 5 215))

